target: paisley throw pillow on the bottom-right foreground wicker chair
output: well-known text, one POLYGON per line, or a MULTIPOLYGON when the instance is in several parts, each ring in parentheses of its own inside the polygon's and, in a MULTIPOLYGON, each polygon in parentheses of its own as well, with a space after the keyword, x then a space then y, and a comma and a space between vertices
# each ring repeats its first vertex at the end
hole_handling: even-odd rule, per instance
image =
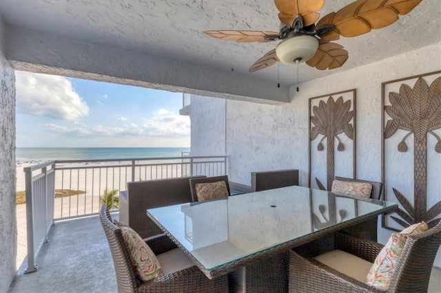
POLYGON ((371 270, 367 274, 367 285, 382 291, 389 290, 396 262, 400 259, 407 237, 428 229, 427 224, 422 221, 405 228, 399 233, 393 233, 373 262, 371 270))

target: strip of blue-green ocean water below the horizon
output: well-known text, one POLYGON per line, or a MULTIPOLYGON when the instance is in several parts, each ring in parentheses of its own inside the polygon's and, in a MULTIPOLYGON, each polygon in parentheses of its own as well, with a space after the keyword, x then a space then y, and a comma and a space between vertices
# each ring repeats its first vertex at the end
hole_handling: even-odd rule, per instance
POLYGON ((51 160, 105 160, 127 158, 172 158, 189 152, 185 147, 66 147, 17 148, 17 163, 46 162, 51 160))

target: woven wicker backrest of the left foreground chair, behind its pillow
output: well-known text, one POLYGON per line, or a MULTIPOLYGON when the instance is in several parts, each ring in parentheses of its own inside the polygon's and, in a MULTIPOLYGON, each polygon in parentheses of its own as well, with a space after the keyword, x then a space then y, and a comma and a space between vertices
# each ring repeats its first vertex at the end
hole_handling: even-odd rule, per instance
POLYGON ((124 242, 121 229, 113 224, 107 206, 101 206, 99 217, 109 242, 110 252, 112 252, 118 292, 136 292, 137 285, 134 265, 130 252, 124 242))

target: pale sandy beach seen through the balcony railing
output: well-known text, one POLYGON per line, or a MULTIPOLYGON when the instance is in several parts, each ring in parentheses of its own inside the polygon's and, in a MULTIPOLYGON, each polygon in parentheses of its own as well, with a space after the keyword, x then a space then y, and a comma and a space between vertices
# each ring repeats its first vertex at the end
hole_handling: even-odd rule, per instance
MULTIPOLYGON (((25 191, 23 168, 35 163, 17 164, 17 191, 25 191)), ((99 212, 99 197, 105 188, 125 191, 127 182, 132 181, 132 166, 127 162, 110 162, 91 165, 87 163, 59 166, 65 170, 55 173, 55 189, 85 191, 80 195, 59 197, 54 200, 54 219, 74 217, 99 212)), ((41 171, 34 171, 33 176, 41 171)), ((181 165, 137 166, 134 180, 155 180, 167 177, 181 177, 181 165)), ((118 192, 116 194, 119 194, 118 192)), ((17 268, 28 254, 26 237, 26 204, 17 205, 17 268)))

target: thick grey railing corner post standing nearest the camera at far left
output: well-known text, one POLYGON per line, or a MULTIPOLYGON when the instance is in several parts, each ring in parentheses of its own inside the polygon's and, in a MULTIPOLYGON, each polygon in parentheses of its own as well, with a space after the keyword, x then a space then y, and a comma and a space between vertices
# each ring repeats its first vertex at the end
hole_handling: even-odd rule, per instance
POLYGON ((34 214, 32 205, 32 171, 30 167, 23 169, 26 186, 26 232, 28 237, 28 268, 25 273, 37 271, 34 261, 34 214))

